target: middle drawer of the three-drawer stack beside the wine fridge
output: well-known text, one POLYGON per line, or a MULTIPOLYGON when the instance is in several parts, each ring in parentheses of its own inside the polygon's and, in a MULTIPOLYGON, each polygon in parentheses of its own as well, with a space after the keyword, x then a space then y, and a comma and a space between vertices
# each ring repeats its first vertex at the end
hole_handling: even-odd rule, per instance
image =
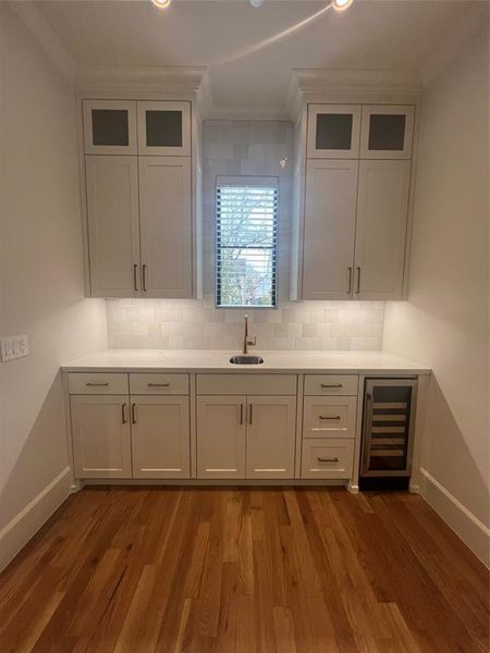
POLYGON ((305 397, 303 438, 355 438, 357 397, 305 397))

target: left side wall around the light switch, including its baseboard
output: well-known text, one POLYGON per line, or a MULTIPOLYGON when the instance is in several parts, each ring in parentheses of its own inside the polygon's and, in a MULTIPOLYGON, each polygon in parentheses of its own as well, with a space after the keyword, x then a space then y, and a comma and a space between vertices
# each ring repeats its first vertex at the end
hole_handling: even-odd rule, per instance
POLYGON ((59 366, 107 331, 84 299, 73 90, 7 3, 0 28, 0 334, 30 347, 0 364, 1 567, 70 490, 59 366))

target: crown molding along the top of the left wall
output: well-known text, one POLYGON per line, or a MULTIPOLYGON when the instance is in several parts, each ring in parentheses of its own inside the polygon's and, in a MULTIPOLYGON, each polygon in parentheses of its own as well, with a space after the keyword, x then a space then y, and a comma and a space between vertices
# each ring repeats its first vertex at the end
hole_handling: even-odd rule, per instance
POLYGON ((34 2, 9 0, 9 7, 34 36, 57 70, 70 82, 75 77, 75 62, 34 2))

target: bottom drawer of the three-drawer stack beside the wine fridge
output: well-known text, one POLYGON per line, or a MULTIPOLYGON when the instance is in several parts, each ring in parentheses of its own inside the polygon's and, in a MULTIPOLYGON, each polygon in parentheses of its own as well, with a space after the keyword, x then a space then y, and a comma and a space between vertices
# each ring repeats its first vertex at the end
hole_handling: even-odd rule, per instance
POLYGON ((350 479, 354 440, 304 440, 302 479, 350 479))

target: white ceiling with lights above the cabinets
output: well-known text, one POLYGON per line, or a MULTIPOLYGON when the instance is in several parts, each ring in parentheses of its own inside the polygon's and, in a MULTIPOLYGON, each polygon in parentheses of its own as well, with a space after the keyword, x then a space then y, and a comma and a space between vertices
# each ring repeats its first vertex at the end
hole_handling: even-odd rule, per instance
POLYGON ((330 9, 290 29, 326 4, 173 0, 161 11, 149 0, 36 2, 81 69, 208 66, 215 107, 271 111, 284 107, 293 67, 421 71, 486 3, 355 0, 345 12, 330 9))

